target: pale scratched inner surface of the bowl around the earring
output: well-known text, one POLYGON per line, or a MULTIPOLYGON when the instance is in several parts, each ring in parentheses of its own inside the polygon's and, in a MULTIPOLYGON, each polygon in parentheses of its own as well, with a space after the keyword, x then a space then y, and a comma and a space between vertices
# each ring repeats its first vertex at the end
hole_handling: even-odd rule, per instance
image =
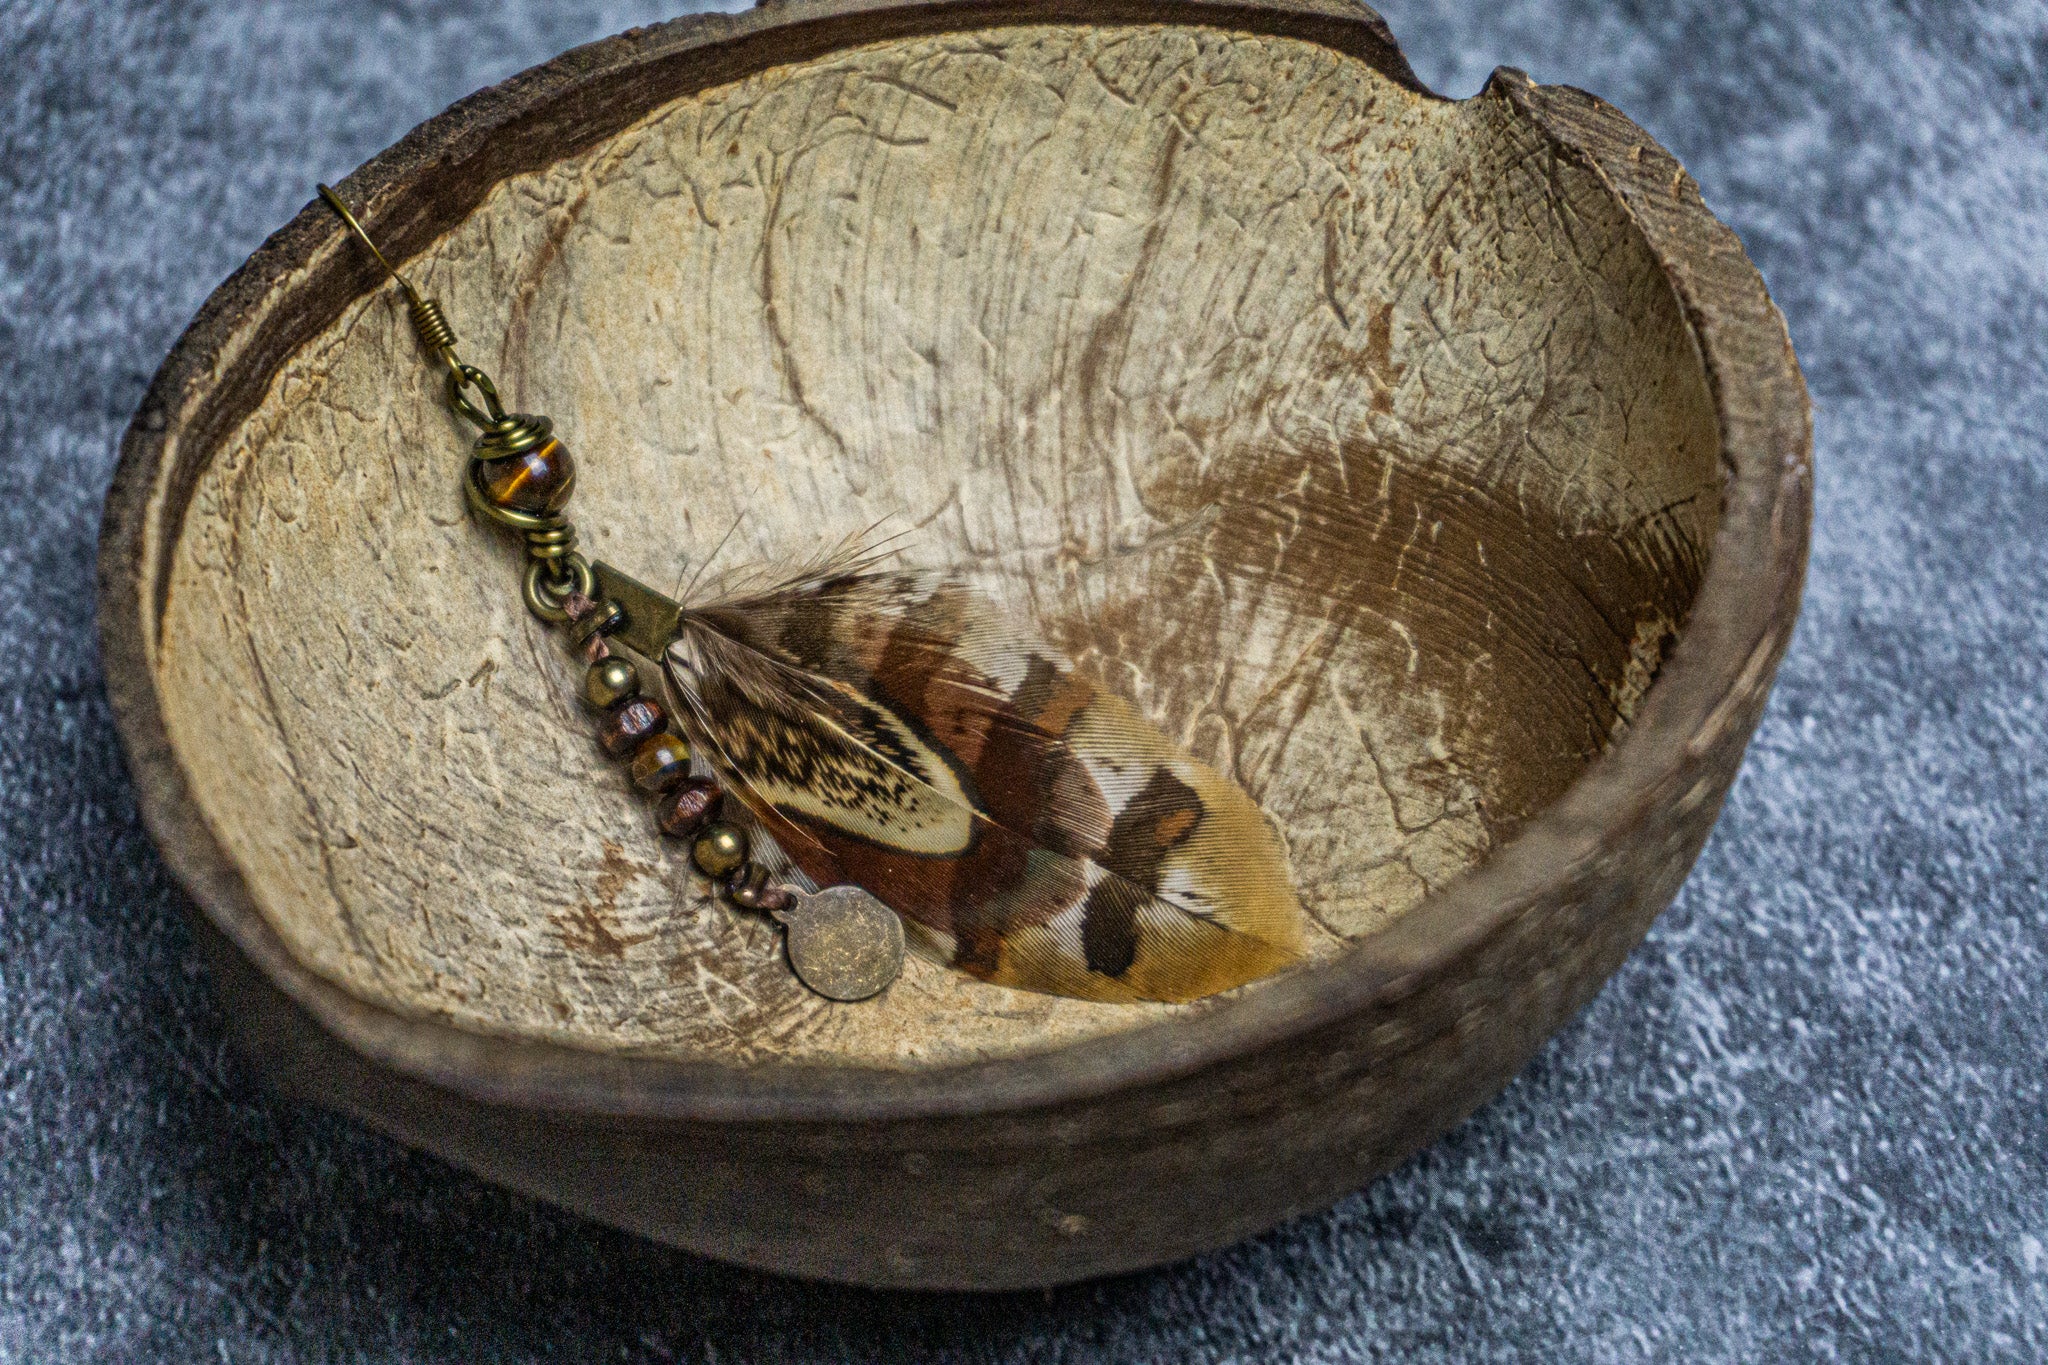
MULTIPOLYGON (((666 587, 903 532, 1243 782, 1325 956, 1626 726, 1718 518, 1698 350, 1597 176, 1505 100, 1292 39, 772 68, 502 182, 408 270, 575 448, 594 557, 666 587)), ((938 1066, 1167 1009, 922 962, 803 993, 596 751, 465 446, 379 291, 193 491, 164 722, 301 962, 698 1060, 938 1066)))

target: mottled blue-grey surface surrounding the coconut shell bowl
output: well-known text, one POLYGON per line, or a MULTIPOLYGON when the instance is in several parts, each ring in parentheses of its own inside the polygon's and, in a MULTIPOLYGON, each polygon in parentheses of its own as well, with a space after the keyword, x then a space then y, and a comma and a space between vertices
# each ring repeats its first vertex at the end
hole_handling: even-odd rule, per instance
POLYGON ((1612 98, 1741 231, 1819 413, 1804 624, 1677 905, 1499 1101, 1233 1250, 977 1300, 670 1252, 264 1093, 100 694, 100 493, 207 291, 664 6, 0 0, 0 1359, 2048 1357, 2048 14, 1384 8, 1450 94, 1612 98))

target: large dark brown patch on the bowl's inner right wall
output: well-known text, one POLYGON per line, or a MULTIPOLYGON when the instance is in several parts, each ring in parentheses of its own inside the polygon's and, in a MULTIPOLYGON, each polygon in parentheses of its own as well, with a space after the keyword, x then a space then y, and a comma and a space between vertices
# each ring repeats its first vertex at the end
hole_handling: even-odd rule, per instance
MULTIPOLYGON (((1397 383, 1386 350, 1391 305, 1374 309, 1366 375, 1397 383)), ((1391 387, 1374 385, 1374 409, 1391 387)), ((1278 403, 1278 399, 1268 399, 1278 403)), ((1333 671, 1389 698, 1452 698, 1417 718, 1444 757, 1411 761, 1403 778, 1423 806, 1448 808, 1477 788, 1477 814, 1499 843, 1561 796, 1626 726, 1681 628, 1706 569, 1694 499, 1626 526, 1573 526, 1509 485, 1477 483, 1460 465, 1401 458, 1368 440, 1262 444, 1188 477, 1153 467, 1147 501, 1194 528, 1149 546, 1135 569, 1149 585, 1108 608, 1063 616, 1053 641, 1100 686, 1118 688, 1133 641, 1229 641, 1239 598, 1270 598, 1288 620, 1321 622, 1296 694, 1333 671), (1225 587, 1219 587, 1219 581, 1225 587), (1475 677, 1483 675, 1483 686, 1475 677)), ((1712 505, 1708 501, 1708 505, 1712 505)), ((1712 524, 1710 520, 1706 522, 1712 524)), ((1229 667, 1229 649, 1221 651, 1229 667)), ((1194 733, 1210 763, 1233 757, 1229 735, 1268 729, 1266 753, 1288 755, 1286 720, 1239 714, 1202 741, 1202 677, 1151 694, 1169 733, 1194 733)), ((1278 688, 1288 690, 1288 679, 1278 688)), ((1274 772, 1235 763, 1253 796, 1274 772)), ((1415 833, 1417 825, 1397 823, 1415 833)))

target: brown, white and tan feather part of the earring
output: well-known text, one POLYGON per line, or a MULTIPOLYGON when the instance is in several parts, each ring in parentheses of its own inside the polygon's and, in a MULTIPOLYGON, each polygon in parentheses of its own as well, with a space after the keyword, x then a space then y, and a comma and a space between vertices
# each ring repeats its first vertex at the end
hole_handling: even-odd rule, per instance
POLYGON ((664 669, 793 868, 866 888, 973 976, 1190 1001, 1300 954, 1251 798, 958 579, 842 546, 686 604, 664 669))

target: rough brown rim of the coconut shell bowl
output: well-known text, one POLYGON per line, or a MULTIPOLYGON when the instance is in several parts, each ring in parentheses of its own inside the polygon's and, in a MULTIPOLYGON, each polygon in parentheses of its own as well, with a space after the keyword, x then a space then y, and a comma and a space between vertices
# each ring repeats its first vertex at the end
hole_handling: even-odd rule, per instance
MULTIPOLYGON (((602 94, 623 78, 659 84, 653 102, 766 65, 887 39, 1016 25, 1223 27, 1294 37, 1430 92, 1378 14, 1343 0, 770 0, 743 14, 692 14, 571 49, 422 123, 342 182, 397 260, 442 231, 420 178, 481 166, 483 188, 518 174, 547 108, 608 137, 602 94), (524 141, 522 141, 524 139, 524 141), (508 149, 492 162, 500 149, 508 149)), ((1677 160, 1602 100, 1536 86, 1501 68, 1473 98, 1509 100, 1567 158, 1599 176, 1663 266, 1698 344, 1722 438, 1722 520, 1692 614, 1630 729, 1507 843, 1393 925, 1346 952, 1192 1013, 1040 1052, 924 1070, 860 1064, 725 1064, 598 1052, 481 1033, 362 1001, 303 966, 254 902, 190 796, 156 690, 156 628, 199 471, 248 407, 221 377, 268 377, 297 342, 262 334, 317 270, 354 293, 381 284, 336 250, 317 203, 279 229, 201 307, 131 424, 106 493, 98 555, 100 657, 137 804, 176 880, 207 919, 348 1050, 414 1081, 489 1105, 659 1121, 883 1121, 987 1117, 1069 1105, 1241 1060, 1360 1011, 1386 1007, 1503 933, 1546 892, 1628 843, 1655 810, 1712 786, 1700 757, 1755 722, 1798 616, 1812 516, 1810 409, 1784 319, 1735 233, 1704 207, 1677 160), (242 327, 248 317, 256 327, 242 327), (268 338, 268 340, 266 340, 268 338), (225 407, 223 407, 225 405, 225 407), (223 415, 225 413, 225 415, 223 415), (170 463, 170 456, 178 456, 170 463)), ((475 192, 481 199, 481 190, 475 192)), ((471 207, 475 203, 471 199, 471 207)), ((453 221, 453 219, 451 219, 453 221)), ((332 319, 328 319, 332 321, 332 319)), ((326 321, 309 323, 313 332, 326 321)), ((254 385, 260 393, 264 385, 254 385)), ((1718 792, 1712 792, 1718 798, 1718 792)))

